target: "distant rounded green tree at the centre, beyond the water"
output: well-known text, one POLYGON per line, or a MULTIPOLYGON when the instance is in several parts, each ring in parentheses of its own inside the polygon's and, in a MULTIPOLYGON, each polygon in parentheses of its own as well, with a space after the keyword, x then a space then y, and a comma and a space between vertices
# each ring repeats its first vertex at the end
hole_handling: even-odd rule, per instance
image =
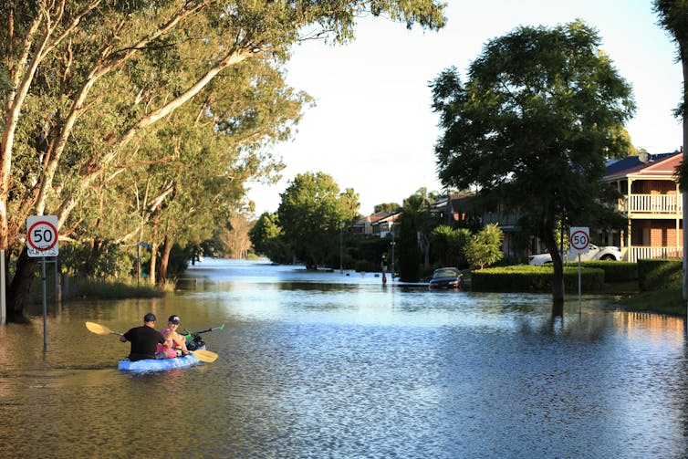
POLYGON ((281 194, 277 210, 285 240, 308 269, 339 249, 339 231, 351 220, 349 195, 323 172, 299 173, 281 194))

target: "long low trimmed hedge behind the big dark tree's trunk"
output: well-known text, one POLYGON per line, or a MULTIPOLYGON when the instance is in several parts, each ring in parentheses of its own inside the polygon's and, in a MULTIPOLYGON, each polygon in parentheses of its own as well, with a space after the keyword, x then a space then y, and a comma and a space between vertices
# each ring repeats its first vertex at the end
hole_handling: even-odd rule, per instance
MULTIPOLYGON (((552 291, 552 266, 491 267, 471 273, 471 290, 482 292, 548 292, 552 291)), ((598 292, 604 284, 604 270, 581 267, 581 286, 584 292, 598 292)), ((578 291, 579 269, 564 268, 567 291, 578 291)))

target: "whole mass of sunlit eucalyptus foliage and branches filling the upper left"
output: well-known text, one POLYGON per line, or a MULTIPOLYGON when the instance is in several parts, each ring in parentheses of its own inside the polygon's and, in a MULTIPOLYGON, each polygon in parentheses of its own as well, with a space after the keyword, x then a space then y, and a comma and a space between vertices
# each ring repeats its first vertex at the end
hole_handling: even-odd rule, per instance
MULTIPOLYGON (((0 247, 21 250, 27 214, 58 214, 61 234, 84 247, 200 245, 250 210, 246 182, 279 178, 271 149, 310 103, 284 81, 295 44, 346 42, 366 14, 437 29, 443 8, 434 0, 10 2, 0 8, 8 140, 0 156, 11 168, 0 183, 0 247)), ((89 263, 75 258, 68 269, 120 272, 89 263)))

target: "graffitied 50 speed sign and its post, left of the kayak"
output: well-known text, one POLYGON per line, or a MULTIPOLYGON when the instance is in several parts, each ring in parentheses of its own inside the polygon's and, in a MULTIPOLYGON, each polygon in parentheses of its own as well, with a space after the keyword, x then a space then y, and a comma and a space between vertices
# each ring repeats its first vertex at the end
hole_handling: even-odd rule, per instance
POLYGON ((43 279, 43 350, 47 349, 46 257, 59 254, 57 215, 32 215, 26 218, 26 254, 41 258, 43 279))

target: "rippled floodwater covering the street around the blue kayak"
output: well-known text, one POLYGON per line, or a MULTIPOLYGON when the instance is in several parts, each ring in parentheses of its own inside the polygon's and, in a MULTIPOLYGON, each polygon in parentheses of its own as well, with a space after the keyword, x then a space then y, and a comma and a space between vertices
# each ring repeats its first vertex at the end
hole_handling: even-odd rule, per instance
POLYGON ((380 277, 206 259, 158 299, 49 305, 0 327, 8 457, 688 455, 683 318, 610 298, 431 292, 380 277), (214 363, 132 375, 116 331, 153 311, 214 363))

